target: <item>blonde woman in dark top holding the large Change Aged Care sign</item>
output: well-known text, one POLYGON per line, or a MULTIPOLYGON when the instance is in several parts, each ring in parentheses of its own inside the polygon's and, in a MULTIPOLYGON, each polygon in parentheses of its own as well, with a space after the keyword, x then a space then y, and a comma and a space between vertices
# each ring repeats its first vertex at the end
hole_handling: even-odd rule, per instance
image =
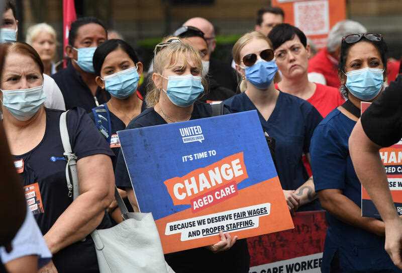
MULTIPOLYGON (((154 54, 154 73, 145 98, 150 108, 133 119, 126 129, 212 116, 210 104, 196 101, 205 89, 198 51, 177 37, 169 37, 156 45, 154 54)), ((137 207, 121 152, 116 164, 116 185, 127 191, 133 207, 137 207)), ((220 241, 214 245, 166 254, 165 259, 176 273, 245 273, 249 270, 247 242, 236 241, 237 236, 232 238, 229 233, 221 232, 220 241)))

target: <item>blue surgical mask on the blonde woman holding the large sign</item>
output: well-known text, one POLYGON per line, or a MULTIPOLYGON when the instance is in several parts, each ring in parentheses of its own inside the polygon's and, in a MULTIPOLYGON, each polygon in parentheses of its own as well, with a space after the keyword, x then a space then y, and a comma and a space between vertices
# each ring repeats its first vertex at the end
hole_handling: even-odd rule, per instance
MULTIPOLYGON (((165 77, 161 76, 166 79, 165 77)), ((179 107, 187 107, 195 102, 200 94, 204 92, 201 77, 192 76, 169 76, 167 89, 163 90, 169 100, 179 107)))

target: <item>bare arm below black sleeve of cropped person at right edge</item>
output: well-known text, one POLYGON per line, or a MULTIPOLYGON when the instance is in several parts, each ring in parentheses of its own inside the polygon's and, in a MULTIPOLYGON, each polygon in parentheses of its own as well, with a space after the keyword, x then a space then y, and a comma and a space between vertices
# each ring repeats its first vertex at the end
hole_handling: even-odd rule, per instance
POLYGON ((385 250, 393 263, 402 268, 402 220, 398 217, 378 155, 379 146, 367 137, 360 119, 349 138, 349 151, 356 174, 385 222, 385 250))

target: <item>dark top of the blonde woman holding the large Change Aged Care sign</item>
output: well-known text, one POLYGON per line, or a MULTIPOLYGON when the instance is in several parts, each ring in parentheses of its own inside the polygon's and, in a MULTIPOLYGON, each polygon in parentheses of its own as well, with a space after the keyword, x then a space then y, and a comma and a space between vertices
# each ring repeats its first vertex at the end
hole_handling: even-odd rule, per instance
MULTIPOLYGON (((224 113, 229 113, 227 110, 224 113)), ((210 104, 196 102, 191 113, 191 120, 212 116, 210 104)), ((127 129, 141 128, 152 125, 166 124, 166 121, 155 112, 154 108, 148 108, 135 119, 127 129)), ((131 188, 130 177, 122 153, 119 154, 116 165, 116 185, 120 188, 131 188)), ((176 273, 205 273, 205 272, 231 272, 248 273, 250 255, 246 239, 238 240, 228 251, 214 254, 205 247, 199 247, 165 255, 166 262, 176 273)))

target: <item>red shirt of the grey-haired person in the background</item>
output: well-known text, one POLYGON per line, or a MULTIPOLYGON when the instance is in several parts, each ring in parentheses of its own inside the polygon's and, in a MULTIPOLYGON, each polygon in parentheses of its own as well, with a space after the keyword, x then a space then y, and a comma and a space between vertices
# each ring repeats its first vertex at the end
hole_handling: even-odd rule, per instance
POLYGON ((309 60, 308 72, 320 73, 324 76, 328 86, 339 88, 341 82, 338 78, 338 64, 331 60, 327 48, 324 47, 309 60))

